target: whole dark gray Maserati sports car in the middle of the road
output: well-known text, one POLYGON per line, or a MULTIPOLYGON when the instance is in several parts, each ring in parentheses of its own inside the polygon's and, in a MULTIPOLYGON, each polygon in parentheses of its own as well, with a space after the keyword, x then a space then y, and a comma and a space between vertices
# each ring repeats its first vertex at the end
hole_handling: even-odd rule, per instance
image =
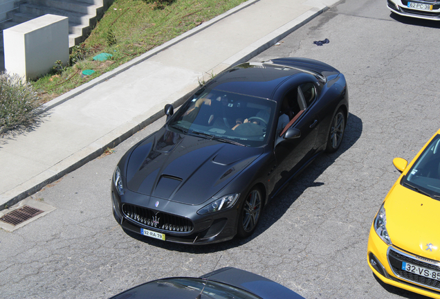
POLYGON ((279 58, 233 66, 120 160, 113 215, 169 242, 250 236, 262 209, 321 152, 341 144, 347 83, 328 64, 279 58))

